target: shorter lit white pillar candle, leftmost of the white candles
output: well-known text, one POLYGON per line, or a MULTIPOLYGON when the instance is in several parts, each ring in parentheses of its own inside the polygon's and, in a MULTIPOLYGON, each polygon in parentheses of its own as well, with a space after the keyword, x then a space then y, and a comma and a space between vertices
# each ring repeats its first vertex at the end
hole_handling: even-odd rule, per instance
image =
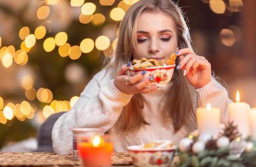
POLYGON ((198 132, 200 134, 210 134, 213 138, 218 138, 220 128, 220 109, 211 108, 210 103, 207 107, 196 109, 196 120, 198 132))

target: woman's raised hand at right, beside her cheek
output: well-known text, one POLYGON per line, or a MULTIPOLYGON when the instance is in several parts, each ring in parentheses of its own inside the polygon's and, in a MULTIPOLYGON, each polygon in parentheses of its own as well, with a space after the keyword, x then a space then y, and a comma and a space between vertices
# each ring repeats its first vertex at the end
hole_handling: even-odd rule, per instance
POLYGON ((211 81, 211 64, 205 57, 196 55, 190 48, 180 49, 177 56, 180 56, 177 68, 182 70, 183 75, 196 89, 211 81))

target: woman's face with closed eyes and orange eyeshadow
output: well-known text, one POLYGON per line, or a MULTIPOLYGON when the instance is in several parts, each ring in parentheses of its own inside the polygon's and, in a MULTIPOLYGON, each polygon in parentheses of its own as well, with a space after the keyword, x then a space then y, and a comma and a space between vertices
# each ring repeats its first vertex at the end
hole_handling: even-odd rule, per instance
POLYGON ((146 12, 139 16, 137 26, 137 48, 133 59, 157 59, 164 64, 178 50, 177 31, 171 16, 162 12, 146 12))

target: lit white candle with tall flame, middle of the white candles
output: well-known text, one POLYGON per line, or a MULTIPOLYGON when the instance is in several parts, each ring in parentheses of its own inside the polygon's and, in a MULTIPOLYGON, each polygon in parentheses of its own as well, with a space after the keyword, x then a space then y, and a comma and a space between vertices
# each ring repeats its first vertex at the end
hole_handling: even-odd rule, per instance
POLYGON ((236 103, 230 103, 228 106, 229 122, 233 121, 233 125, 237 125, 238 132, 242 138, 250 135, 249 124, 249 104, 240 102, 239 91, 236 92, 236 103))

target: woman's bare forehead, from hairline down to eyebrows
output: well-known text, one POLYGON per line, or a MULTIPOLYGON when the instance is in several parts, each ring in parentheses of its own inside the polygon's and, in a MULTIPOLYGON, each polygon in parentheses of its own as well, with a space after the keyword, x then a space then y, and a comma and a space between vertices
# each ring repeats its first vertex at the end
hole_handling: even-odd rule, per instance
POLYGON ((150 11, 143 12, 139 16, 137 30, 162 30, 172 29, 175 30, 176 24, 173 18, 164 12, 150 11))

